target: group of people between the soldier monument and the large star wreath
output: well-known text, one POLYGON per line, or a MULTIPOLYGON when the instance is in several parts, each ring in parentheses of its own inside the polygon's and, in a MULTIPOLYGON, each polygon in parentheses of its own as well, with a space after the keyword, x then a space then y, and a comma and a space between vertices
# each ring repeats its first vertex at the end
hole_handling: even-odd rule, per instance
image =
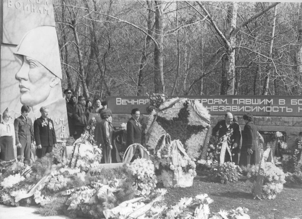
MULTIPOLYGON (((90 100, 85 97, 72 95, 72 89, 64 90, 66 99, 66 108, 69 124, 69 135, 75 139, 79 138, 85 131, 90 113, 100 114, 101 120, 97 122, 95 127, 95 140, 101 145, 103 152, 103 163, 121 162, 119 151, 115 145, 115 137, 121 134, 126 127, 115 130, 112 126, 112 112, 107 108, 107 102, 101 102, 100 99, 94 101, 94 106, 90 100), (76 102, 77 99, 77 102, 76 102)), ((126 146, 133 143, 142 144, 143 131, 139 121, 140 111, 135 108, 131 111, 131 118, 127 122, 127 141, 126 146)))

